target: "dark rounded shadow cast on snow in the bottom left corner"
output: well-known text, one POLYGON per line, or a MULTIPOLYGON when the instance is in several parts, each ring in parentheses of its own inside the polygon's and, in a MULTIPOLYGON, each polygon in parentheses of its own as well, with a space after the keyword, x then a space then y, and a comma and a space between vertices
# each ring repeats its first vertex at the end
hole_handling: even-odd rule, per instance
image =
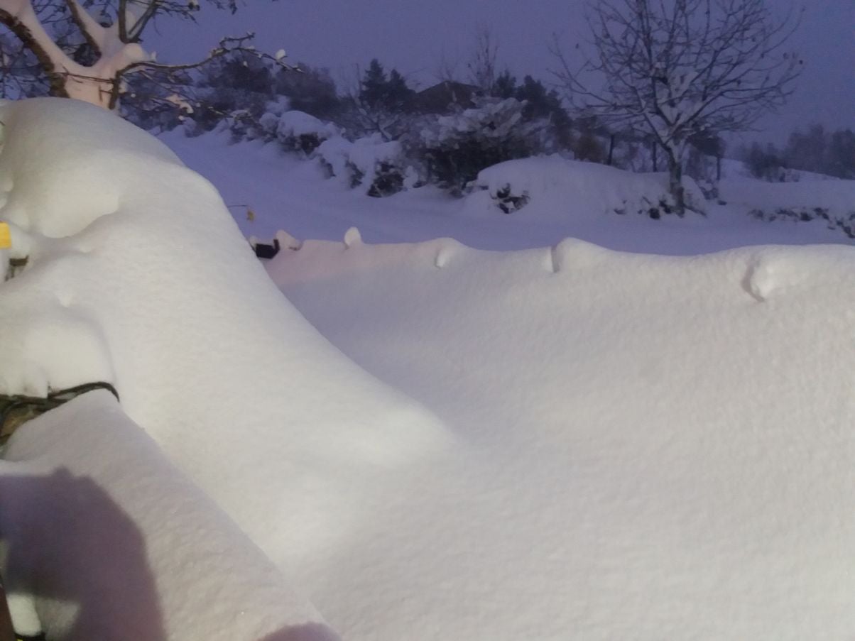
POLYGON ((38 598, 48 638, 166 641, 143 535, 91 479, 0 475, 0 544, 7 592, 38 598))

